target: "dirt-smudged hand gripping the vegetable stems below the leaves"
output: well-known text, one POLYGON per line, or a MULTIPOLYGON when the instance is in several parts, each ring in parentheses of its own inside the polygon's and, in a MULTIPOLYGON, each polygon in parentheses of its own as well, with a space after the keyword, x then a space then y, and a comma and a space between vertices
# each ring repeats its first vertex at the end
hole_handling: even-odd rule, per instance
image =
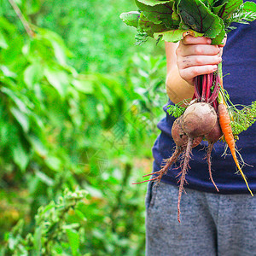
POLYGON ((194 38, 186 36, 180 41, 177 50, 177 68, 181 78, 194 85, 194 79, 198 75, 212 73, 218 69, 218 63, 222 61, 222 52, 226 43, 211 45, 210 38, 194 38))

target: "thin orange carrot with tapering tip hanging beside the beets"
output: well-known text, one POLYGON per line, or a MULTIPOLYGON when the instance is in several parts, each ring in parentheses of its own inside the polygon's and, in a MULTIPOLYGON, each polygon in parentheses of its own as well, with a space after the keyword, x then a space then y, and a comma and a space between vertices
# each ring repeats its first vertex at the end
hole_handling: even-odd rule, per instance
POLYGON ((228 112, 228 109, 224 106, 223 103, 220 103, 218 105, 218 118, 219 118, 219 125, 221 127, 221 130, 224 134, 224 138, 226 143, 228 144, 229 148, 230 148, 230 152, 233 156, 233 159, 236 163, 236 166, 239 170, 239 172, 241 173, 241 177, 244 179, 245 183, 247 184, 247 189, 249 190, 249 192, 251 193, 251 195, 253 196, 253 192, 252 190, 249 188, 249 185, 247 183, 247 177, 244 175, 244 173, 241 171, 241 167, 239 165, 239 162, 237 160, 236 157, 236 143, 235 143, 235 139, 232 133, 232 128, 230 125, 230 115, 228 112))

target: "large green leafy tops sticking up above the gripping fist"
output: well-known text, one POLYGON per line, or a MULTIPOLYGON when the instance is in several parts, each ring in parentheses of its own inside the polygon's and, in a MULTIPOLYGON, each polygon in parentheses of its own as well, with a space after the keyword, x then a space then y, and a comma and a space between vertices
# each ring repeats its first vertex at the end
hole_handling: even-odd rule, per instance
POLYGON ((148 37, 176 43, 185 35, 212 38, 221 44, 225 34, 256 19, 256 4, 242 0, 135 0, 138 11, 123 13, 120 18, 137 28, 137 44, 148 37))

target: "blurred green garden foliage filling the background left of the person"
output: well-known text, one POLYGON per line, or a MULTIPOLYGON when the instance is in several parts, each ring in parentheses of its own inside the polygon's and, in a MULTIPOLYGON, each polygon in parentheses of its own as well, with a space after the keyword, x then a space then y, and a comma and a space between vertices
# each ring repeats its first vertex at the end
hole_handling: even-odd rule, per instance
POLYGON ((163 45, 134 44, 133 1, 0 1, 0 253, 143 255, 163 45))

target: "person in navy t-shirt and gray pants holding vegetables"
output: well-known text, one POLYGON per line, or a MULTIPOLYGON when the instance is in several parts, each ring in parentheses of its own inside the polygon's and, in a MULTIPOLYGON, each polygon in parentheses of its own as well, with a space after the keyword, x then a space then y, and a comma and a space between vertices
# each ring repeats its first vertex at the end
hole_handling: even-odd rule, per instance
MULTIPOLYGON (((166 43, 166 91, 173 104, 193 96, 195 76, 212 73, 223 61, 224 88, 236 104, 249 105, 256 99, 256 29, 237 25, 226 44, 211 45, 209 38, 187 36, 180 43, 166 43), (223 55, 222 55, 223 52, 223 55), (228 73, 230 73, 228 75, 228 73)), ((166 111, 166 106, 164 110, 166 111)), ((154 143, 154 172, 173 153, 174 118, 166 113, 154 143)), ((243 131, 236 142, 247 165, 243 172, 256 194, 256 125, 243 131), (240 150, 241 149, 241 150, 240 150)), ((146 196, 146 255, 256 255, 256 195, 249 194, 232 157, 225 157, 224 143, 212 152, 212 177, 207 171, 206 142, 193 148, 187 184, 181 199, 181 224, 177 222, 179 163, 164 175, 159 185, 148 183, 146 196)))

